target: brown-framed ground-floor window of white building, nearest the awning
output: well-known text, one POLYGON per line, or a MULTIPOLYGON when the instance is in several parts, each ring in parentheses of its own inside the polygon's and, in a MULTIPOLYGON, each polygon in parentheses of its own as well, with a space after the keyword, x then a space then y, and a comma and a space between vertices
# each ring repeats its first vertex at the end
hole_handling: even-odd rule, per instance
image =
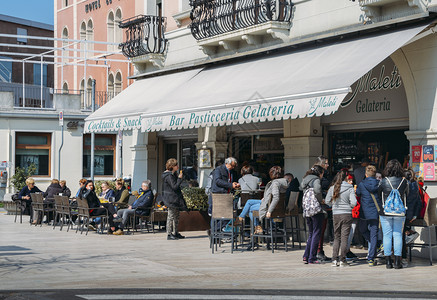
MULTIPOLYGON (((96 134, 94 140, 94 175, 114 176, 115 134, 96 134)), ((91 174, 91 135, 83 136, 83 176, 91 174)))

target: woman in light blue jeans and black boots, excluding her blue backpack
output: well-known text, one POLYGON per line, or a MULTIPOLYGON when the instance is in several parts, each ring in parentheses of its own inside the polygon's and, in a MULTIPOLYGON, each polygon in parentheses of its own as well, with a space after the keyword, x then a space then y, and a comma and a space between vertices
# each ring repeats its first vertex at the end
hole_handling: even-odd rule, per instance
MULTIPOLYGON (((384 178, 378 188, 378 193, 382 196, 384 206, 388 195, 393 189, 397 189, 405 205, 405 198, 408 195, 408 182, 404 178, 404 170, 397 159, 392 159, 387 163, 382 174, 384 178)), ((381 227, 383 233, 384 256, 387 269, 393 268, 391 260, 392 242, 395 256, 395 269, 402 268, 402 233, 405 223, 405 216, 386 215, 381 210, 381 227)))

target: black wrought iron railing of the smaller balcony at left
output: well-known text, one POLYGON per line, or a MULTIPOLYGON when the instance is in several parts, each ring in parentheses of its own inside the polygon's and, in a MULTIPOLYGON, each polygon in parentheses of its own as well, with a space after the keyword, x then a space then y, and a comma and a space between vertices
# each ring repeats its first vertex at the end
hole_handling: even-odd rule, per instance
POLYGON ((164 36, 166 18, 139 15, 120 22, 125 29, 125 41, 119 45, 126 57, 145 54, 164 54, 168 40, 164 36))

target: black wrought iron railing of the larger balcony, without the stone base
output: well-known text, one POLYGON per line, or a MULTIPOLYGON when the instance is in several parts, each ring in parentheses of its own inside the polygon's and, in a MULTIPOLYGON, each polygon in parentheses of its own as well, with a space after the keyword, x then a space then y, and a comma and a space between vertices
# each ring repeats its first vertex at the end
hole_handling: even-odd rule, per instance
POLYGON ((291 21, 291 0, 190 0, 191 34, 201 40, 269 21, 291 21))

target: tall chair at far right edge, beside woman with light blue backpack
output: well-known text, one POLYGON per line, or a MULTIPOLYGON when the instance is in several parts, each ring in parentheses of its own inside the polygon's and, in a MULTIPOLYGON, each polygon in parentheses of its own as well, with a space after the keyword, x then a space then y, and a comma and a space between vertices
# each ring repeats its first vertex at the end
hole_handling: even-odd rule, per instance
POLYGON ((422 248, 422 249, 428 249, 429 252, 429 264, 432 266, 432 250, 434 248, 437 248, 437 242, 432 242, 432 234, 431 232, 434 231, 435 238, 437 239, 437 198, 430 198, 428 200, 428 205, 426 206, 425 210, 425 216, 423 220, 415 220, 411 226, 415 227, 422 227, 422 232, 426 229, 428 231, 428 242, 427 243, 411 243, 408 244, 408 252, 409 252, 409 260, 411 261, 411 250, 412 248, 422 248))

